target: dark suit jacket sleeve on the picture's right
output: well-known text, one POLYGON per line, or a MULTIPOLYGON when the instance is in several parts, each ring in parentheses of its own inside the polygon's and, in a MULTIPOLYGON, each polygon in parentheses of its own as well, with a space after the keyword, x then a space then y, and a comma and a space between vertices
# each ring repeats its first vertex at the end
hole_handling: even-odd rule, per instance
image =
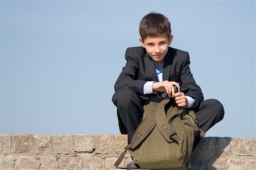
POLYGON ((180 74, 180 90, 184 92, 186 96, 190 96, 195 99, 195 106, 199 105, 204 100, 201 88, 196 84, 192 73, 189 69, 189 55, 186 53, 185 60, 181 64, 181 74, 180 74))

